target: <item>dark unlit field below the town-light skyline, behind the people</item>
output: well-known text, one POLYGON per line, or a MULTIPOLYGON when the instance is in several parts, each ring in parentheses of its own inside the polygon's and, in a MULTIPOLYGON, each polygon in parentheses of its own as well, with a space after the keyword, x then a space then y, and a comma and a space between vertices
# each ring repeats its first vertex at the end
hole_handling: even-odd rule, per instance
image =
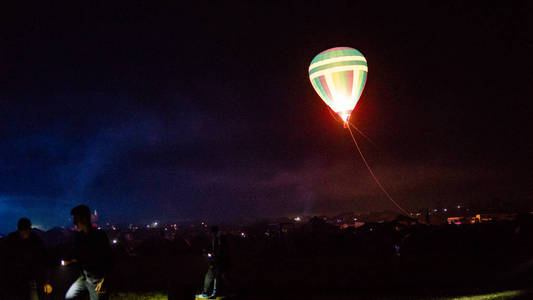
MULTIPOLYGON (((269 238, 228 235, 225 293, 235 299, 533 299, 528 222, 415 225, 402 227, 401 235, 392 223, 344 230, 306 225, 269 238)), ((134 252, 117 244, 112 299, 194 299, 207 268, 207 238, 191 238, 191 247, 179 246, 179 238, 146 240, 134 252)), ((55 267, 49 299, 62 299, 76 272, 55 267)))

